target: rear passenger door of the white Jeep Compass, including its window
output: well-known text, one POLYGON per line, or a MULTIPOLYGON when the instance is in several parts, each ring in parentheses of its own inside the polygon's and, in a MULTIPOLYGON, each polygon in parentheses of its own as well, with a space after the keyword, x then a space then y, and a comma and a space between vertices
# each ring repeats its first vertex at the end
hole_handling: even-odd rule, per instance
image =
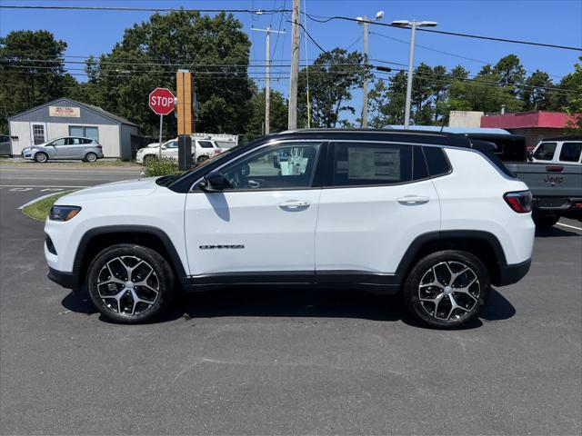
POLYGON ((422 148, 336 142, 328 166, 316 227, 317 281, 383 282, 416 236, 439 230, 422 148))

